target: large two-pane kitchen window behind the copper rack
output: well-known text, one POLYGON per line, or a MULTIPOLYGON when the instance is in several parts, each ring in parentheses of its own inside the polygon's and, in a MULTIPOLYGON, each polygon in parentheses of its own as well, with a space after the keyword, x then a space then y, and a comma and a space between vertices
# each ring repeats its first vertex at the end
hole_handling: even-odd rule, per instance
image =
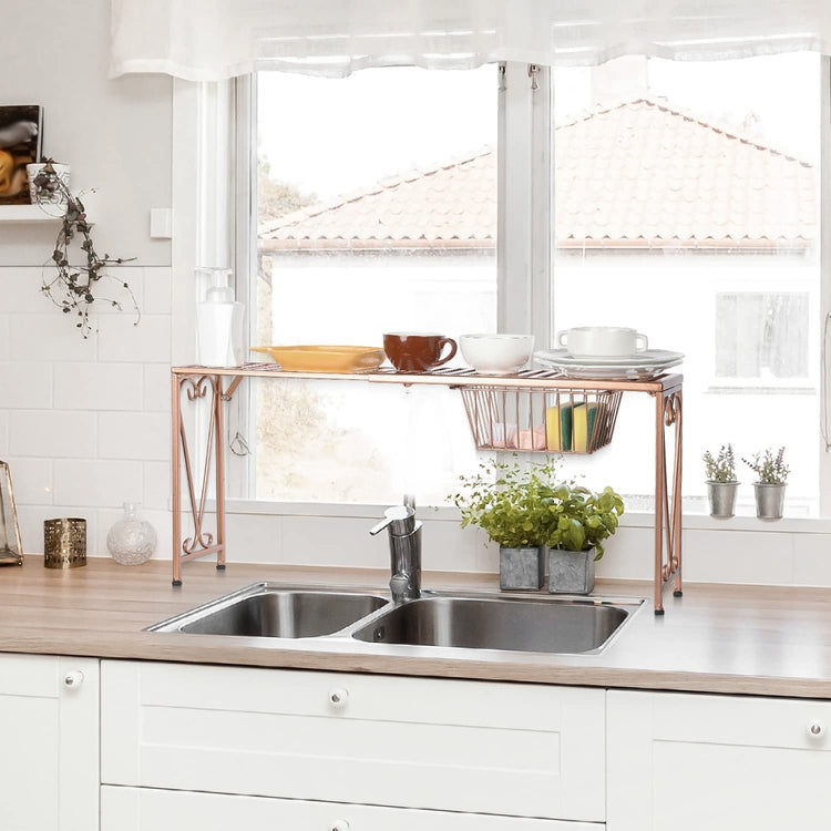
MULTIPOLYGON (((260 73, 259 204, 278 213, 258 222, 255 339, 380 343, 384 329, 455 337, 499 321, 544 346, 570 326, 634 326, 687 356, 685 510, 706 510, 701 452, 730 441, 743 455, 784 444, 789 513, 815 515, 820 65, 796 53, 260 73), (464 171, 475 193, 417 191, 464 171), (409 192, 398 213, 369 206, 396 187, 409 192), (408 239, 404 211, 454 244, 408 239)), ((345 387, 259 386, 252 497, 383 503, 416 478, 438 504, 475 465, 458 393, 345 387)), ((652 506, 649 407, 628 397, 611 448, 566 461, 635 511, 652 506)))

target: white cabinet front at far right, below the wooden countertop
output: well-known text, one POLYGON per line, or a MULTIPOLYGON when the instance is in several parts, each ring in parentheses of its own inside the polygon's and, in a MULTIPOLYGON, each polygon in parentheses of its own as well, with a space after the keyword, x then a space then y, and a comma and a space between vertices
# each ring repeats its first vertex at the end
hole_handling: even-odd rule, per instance
POLYGON ((831 702, 609 690, 608 831, 831 828, 831 702))

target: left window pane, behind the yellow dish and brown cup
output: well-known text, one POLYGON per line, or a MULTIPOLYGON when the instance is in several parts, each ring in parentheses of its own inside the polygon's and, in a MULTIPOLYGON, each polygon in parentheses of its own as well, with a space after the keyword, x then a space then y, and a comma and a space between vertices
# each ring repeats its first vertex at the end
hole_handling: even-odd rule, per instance
MULTIPOLYGON (((493 66, 261 73, 257 342, 495 330, 496 104, 493 66)), ((271 381, 256 396, 259 499, 443 501, 475 464, 454 391, 271 381)))

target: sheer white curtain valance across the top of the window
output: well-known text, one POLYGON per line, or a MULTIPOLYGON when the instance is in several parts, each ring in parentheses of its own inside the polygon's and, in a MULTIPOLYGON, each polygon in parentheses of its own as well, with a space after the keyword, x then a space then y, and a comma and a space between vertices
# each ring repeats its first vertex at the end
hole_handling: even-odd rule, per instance
POLYGON ((831 52, 831 0, 112 0, 111 76, 831 52))

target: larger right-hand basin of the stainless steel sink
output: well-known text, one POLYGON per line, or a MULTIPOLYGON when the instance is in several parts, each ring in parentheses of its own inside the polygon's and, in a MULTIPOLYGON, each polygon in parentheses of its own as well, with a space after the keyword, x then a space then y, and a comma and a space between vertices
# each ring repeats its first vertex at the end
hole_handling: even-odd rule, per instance
POLYGON ((376 644, 592 653, 628 616, 625 604, 595 601, 422 597, 373 617, 352 637, 376 644))

